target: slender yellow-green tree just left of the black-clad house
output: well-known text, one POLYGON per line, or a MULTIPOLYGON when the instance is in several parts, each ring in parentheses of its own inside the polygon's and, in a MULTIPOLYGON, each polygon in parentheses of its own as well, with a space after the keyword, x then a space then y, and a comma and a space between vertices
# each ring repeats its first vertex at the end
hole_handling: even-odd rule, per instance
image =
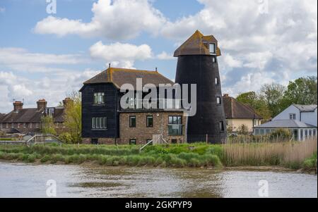
POLYGON ((69 101, 66 102, 64 110, 64 126, 71 135, 73 143, 81 143, 82 133, 82 104, 81 93, 71 92, 68 95, 69 101))

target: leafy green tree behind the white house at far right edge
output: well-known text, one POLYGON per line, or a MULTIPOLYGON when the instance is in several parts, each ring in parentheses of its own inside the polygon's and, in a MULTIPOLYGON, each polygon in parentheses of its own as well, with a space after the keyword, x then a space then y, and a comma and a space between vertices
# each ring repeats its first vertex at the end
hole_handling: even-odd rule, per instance
POLYGON ((301 77, 294 82, 289 82, 285 98, 288 106, 317 104, 317 77, 301 77))

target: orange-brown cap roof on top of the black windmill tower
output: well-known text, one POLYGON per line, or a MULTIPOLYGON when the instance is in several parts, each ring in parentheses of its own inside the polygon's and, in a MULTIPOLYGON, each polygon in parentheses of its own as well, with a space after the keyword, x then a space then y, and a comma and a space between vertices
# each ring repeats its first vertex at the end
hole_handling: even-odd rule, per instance
MULTIPOLYGON (((189 37, 184 44, 179 46, 175 51, 174 56, 182 55, 211 55, 209 43, 215 43, 218 46, 218 41, 213 35, 204 36, 199 30, 194 32, 194 35, 189 37)), ((216 56, 220 56, 220 49, 217 47, 216 56)))

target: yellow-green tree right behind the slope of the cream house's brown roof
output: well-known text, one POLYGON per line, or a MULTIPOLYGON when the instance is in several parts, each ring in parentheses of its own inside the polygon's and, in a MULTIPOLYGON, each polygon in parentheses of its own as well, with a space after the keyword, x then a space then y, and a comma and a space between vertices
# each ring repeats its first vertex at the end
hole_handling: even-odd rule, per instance
POLYGON ((242 93, 237 96, 237 101, 242 104, 249 104, 264 119, 268 120, 271 118, 271 111, 269 111, 266 101, 256 92, 242 93))

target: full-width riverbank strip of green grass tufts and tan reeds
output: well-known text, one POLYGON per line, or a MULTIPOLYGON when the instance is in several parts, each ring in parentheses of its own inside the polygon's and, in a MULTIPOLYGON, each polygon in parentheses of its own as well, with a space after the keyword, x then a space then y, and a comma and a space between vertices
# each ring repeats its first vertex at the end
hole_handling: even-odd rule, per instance
POLYGON ((148 146, 0 145, 0 159, 40 163, 98 163, 103 166, 220 167, 284 166, 317 170, 317 140, 295 143, 175 144, 148 146))

